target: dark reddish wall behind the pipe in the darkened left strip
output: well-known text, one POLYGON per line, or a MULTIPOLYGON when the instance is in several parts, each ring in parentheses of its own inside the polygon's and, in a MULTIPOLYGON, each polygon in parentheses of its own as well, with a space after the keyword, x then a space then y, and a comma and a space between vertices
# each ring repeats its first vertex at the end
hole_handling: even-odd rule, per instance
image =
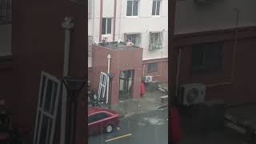
MULTIPOLYGON (((11 96, 14 102, 12 113, 15 123, 19 127, 25 127, 30 138, 34 134, 41 71, 62 78, 65 38, 62 22, 66 16, 73 17, 75 22, 70 37, 70 74, 82 76, 86 70, 86 59, 82 56, 86 54, 83 43, 86 22, 84 6, 78 6, 70 0, 13 2, 12 48, 15 82, 14 94, 11 96)), ((79 101, 76 143, 86 142, 85 110, 79 101)), ((58 134, 60 130, 56 130, 57 137, 58 134)), ((59 139, 54 143, 59 143, 58 141, 59 139)))

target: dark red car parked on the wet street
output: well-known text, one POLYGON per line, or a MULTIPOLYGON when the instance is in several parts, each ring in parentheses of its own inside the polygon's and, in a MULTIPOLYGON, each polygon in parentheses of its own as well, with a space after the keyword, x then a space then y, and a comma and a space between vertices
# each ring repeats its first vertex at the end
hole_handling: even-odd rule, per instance
POLYGON ((119 114, 114 110, 88 107, 89 134, 111 133, 119 125, 119 114))

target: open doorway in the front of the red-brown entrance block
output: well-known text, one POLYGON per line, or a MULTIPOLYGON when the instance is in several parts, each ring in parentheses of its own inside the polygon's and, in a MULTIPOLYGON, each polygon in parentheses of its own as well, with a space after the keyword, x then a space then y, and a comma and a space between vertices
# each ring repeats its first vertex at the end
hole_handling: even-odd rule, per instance
POLYGON ((132 98, 134 70, 123 70, 119 75, 119 102, 132 98))

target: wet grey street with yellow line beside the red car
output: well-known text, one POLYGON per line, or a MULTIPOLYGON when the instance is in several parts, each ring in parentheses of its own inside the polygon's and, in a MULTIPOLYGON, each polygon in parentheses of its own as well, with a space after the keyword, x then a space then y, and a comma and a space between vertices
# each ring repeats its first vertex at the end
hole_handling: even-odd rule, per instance
POLYGON ((89 144, 167 144, 168 110, 153 110, 144 114, 134 114, 120 120, 118 130, 112 134, 88 137, 89 144))

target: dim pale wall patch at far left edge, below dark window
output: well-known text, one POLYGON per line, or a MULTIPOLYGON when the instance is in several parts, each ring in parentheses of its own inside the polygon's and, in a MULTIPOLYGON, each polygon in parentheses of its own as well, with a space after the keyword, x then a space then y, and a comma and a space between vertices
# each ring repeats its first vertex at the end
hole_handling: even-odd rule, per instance
POLYGON ((12 54, 11 25, 0 25, 0 56, 10 54, 12 54))

